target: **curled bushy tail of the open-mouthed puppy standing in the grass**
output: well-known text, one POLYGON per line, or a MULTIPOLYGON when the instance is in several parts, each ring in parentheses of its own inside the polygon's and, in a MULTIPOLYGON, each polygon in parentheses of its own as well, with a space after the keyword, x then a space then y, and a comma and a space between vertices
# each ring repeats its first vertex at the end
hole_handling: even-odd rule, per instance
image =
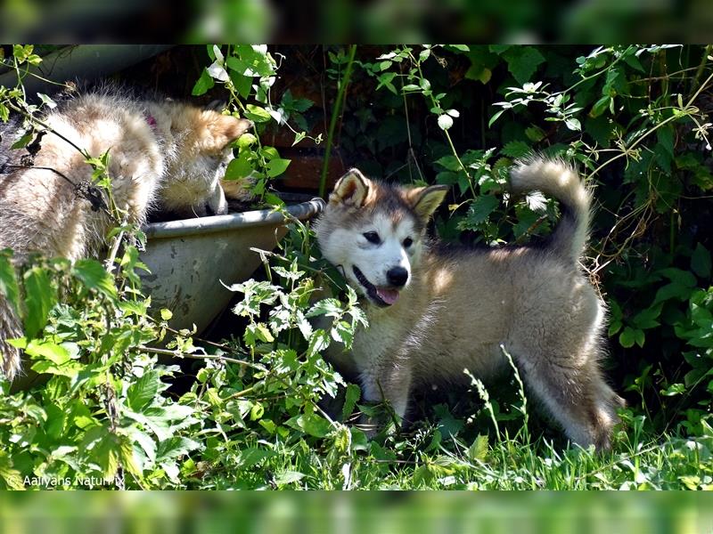
POLYGON ((542 191, 560 201, 561 221, 548 247, 553 253, 577 263, 585 247, 592 206, 592 194, 577 171, 560 159, 522 159, 512 170, 511 188, 514 193, 542 191))

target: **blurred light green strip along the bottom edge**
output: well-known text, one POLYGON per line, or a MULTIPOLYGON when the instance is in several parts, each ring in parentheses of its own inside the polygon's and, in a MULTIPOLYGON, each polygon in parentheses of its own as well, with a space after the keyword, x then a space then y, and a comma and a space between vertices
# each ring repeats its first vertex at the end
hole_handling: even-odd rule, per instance
POLYGON ((6 493, 0 531, 709 534, 711 505, 675 492, 6 493))

